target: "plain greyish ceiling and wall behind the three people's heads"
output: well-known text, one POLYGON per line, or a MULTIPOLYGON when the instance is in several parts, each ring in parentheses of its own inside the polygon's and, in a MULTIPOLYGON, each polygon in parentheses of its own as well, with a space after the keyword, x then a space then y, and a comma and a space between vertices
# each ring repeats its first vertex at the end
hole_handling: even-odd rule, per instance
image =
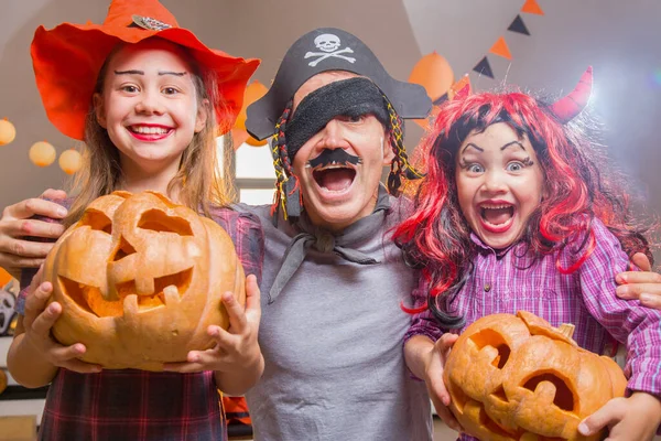
MULTIPOLYGON (((162 0, 181 25, 213 47, 262 58, 256 78, 270 84, 282 55, 303 33, 337 26, 361 37, 397 78, 424 54, 445 56, 458 77, 500 36, 512 60, 489 55, 495 79, 472 73, 478 89, 520 86, 551 96, 574 87, 595 68, 590 101, 604 123, 611 158, 630 176, 649 213, 661 213, 661 2, 657 0, 538 0, 543 15, 521 13, 530 35, 507 31, 524 0, 162 0)), ((48 140, 58 153, 75 142, 47 121, 29 56, 39 24, 101 22, 108 0, 7 0, 0 17, 0 118, 17 127, 0 147, 0 206, 62 187, 57 164, 37 169, 28 149, 48 140)), ((409 149, 421 136, 408 126, 409 149)))

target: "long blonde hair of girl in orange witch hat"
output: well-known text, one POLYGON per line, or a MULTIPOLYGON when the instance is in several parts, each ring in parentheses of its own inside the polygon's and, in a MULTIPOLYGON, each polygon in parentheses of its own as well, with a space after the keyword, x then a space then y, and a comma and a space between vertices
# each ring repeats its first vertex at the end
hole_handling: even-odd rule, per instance
MULTIPOLYGON (((217 127, 216 115, 218 111, 225 119, 228 109, 218 93, 216 73, 201 72, 202 67, 191 53, 183 46, 176 46, 182 49, 193 69, 192 79, 195 85, 197 105, 206 109, 207 118, 204 128, 193 136, 191 143, 182 153, 178 171, 167 184, 167 193, 171 194, 175 189, 178 190, 178 198, 182 204, 209 217, 212 205, 226 206, 234 197, 232 185, 224 179, 229 175, 227 168, 230 163, 230 151, 223 149, 224 160, 221 163, 226 170, 218 168, 216 154, 216 137, 229 129, 225 120, 220 121, 220 128, 217 127)), ((95 93, 102 93, 109 61, 120 47, 121 45, 116 47, 106 58, 97 78, 95 93)), ((64 219, 66 227, 75 224, 94 200, 118 190, 122 180, 119 150, 108 137, 108 131, 97 121, 94 105, 90 106, 87 114, 83 166, 75 174, 71 185, 77 196, 64 219)))

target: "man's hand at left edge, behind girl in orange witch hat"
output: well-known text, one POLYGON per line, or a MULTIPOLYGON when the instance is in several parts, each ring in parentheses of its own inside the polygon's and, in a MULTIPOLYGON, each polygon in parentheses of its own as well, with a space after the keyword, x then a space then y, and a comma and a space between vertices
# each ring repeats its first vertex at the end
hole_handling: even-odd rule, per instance
POLYGON ((22 236, 56 239, 64 233, 57 223, 30 219, 40 215, 56 219, 66 216, 62 205, 44 200, 62 200, 66 193, 48 189, 40 197, 33 197, 10 205, 2 211, 0 218, 0 267, 12 277, 20 279, 21 268, 37 268, 53 248, 51 243, 23 240, 22 236))

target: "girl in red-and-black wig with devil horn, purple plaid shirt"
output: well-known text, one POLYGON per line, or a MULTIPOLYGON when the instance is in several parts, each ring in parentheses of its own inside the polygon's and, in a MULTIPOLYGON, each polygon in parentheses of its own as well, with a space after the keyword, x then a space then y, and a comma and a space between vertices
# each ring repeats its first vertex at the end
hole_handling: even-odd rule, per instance
POLYGON ((522 93, 460 93, 421 146, 426 178, 394 233, 423 275, 404 352, 457 430, 442 379, 455 334, 484 315, 518 310, 554 326, 575 324, 578 345, 595 353, 611 337, 627 343, 628 398, 584 420, 583 434, 610 426, 609 439, 647 440, 661 423, 661 313, 619 299, 614 277, 628 255, 651 252, 618 174, 572 121, 590 87, 588 69, 552 105, 522 93))

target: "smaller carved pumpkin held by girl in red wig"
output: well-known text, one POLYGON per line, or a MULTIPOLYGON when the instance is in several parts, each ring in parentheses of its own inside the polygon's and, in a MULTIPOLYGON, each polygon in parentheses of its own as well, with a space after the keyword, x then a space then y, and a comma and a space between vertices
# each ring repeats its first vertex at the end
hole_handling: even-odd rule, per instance
POLYGON ((492 314, 453 346, 444 380, 451 410, 467 433, 494 441, 598 440, 578 423, 627 380, 610 358, 576 345, 573 325, 552 327, 529 312, 492 314))

